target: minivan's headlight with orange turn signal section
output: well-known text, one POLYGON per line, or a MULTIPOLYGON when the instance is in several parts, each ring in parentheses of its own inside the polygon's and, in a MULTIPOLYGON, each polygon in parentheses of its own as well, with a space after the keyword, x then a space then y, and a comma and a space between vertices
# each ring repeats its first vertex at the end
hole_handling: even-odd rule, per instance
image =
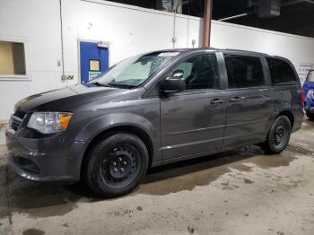
POLYGON ((27 127, 38 130, 43 134, 64 131, 68 126, 72 113, 63 112, 35 112, 31 115, 27 127))

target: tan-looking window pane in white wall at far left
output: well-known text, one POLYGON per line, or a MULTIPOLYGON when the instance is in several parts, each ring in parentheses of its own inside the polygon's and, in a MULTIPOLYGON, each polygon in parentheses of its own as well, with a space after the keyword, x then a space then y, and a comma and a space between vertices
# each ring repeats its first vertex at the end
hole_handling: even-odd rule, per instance
POLYGON ((0 41, 0 75, 25 75, 24 44, 0 41))

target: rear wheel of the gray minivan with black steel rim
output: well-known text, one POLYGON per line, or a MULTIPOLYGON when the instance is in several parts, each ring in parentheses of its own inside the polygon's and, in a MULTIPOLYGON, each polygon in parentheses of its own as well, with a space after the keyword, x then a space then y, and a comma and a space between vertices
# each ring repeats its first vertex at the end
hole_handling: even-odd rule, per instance
POLYGON ((270 127, 266 142, 260 144, 260 146, 269 154, 283 152, 289 143, 291 132, 292 125, 289 118, 286 116, 279 116, 275 118, 275 121, 270 127))

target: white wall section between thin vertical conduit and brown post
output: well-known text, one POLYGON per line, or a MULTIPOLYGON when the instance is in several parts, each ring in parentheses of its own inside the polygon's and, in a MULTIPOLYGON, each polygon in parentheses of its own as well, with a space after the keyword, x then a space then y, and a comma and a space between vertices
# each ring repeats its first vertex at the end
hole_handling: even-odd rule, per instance
POLYGON ((101 0, 66 0, 62 4, 65 72, 78 76, 78 39, 109 42, 109 64, 161 48, 199 47, 201 20, 196 17, 144 9, 101 0), (188 21, 189 19, 189 21, 188 21), (174 27, 175 21, 175 27, 174 27))

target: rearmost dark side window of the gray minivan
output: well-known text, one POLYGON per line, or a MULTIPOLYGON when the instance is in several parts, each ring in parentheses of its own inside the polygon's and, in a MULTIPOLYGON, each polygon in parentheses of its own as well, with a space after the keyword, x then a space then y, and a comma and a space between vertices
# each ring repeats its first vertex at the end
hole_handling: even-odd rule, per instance
POLYGON ((297 83, 298 80, 291 65, 281 59, 266 57, 266 60, 273 85, 294 85, 297 83))

